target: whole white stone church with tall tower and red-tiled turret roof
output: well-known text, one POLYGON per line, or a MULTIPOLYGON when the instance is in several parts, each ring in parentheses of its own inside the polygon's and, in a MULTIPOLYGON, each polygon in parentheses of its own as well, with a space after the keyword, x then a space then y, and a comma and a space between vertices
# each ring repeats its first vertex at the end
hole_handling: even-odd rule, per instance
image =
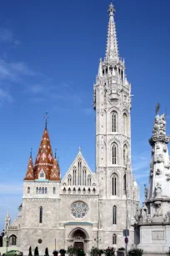
POLYGON ((92 172, 79 149, 63 178, 52 155, 47 123, 35 164, 32 155, 23 180, 18 218, 5 220, 4 241, 23 253, 70 245, 84 248, 124 247, 123 229, 134 243, 133 223, 139 188, 131 166, 131 84, 119 57, 112 3, 108 9, 107 51, 100 59, 93 86, 96 111, 96 170, 92 172))

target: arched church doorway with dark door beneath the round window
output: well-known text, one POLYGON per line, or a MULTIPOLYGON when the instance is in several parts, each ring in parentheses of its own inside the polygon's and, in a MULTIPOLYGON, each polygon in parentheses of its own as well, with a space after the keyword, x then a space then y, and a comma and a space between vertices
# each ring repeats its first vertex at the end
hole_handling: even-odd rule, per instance
POLYGON ((82 228, 72 230, 70 238, 74 248, 82 248, 87 253, 89 238, 85 230, 82 228))

